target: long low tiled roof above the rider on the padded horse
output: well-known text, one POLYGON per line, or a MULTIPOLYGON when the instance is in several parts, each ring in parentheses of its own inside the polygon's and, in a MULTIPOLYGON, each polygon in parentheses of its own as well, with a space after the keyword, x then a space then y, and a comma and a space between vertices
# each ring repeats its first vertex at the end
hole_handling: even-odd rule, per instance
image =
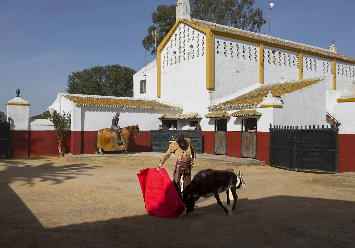
POLYGON ((114 108, 146 108, 146 109, 170 109, 181 110, 179 107, 166 105, 154 100, 138 100, 137 98, 108 98, 108 97, 81 97, 72 95, 63 95, 70 101, 79 106, 91 107, 114 107, 114 108))

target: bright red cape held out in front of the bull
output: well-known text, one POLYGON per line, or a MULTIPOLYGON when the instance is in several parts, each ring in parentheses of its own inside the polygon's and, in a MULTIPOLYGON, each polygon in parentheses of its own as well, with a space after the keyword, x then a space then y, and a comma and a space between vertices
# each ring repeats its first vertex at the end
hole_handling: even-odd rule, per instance
POLYGON ((176 192, 165 168, 144 169, 137 174, 149 215, 176 218, 185 211, 184 203, 176 192))

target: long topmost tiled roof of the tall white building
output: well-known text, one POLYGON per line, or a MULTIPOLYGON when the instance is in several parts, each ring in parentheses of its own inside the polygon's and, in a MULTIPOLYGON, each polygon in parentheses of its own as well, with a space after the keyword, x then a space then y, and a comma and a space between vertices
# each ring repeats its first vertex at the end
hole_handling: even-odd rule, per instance
POLYGON ((239 36, 250 38, 250 39, 255 39, 255 40, 264 41, 264 42, 277 44, 277 45, 288 46, 288 47, 298 49, 298 50, 314 52, 314 53, 329 56, 332 58, 340 58, 343 60, 355 62, 355 58, 345 56, 345 55, 339 54, 337 52, 332 52, 331 50, 316 47, 316 46, 309 46, 309 45, 305 45, 305 44, 301 44, 301 43, 297 43, 297 42, 293 42, 293 41, 289 41, 289 40, 275 38, 275 37, 268 36, 265 34, 258 34, 258 33, 246 31, 243 29, 239 29, 239 28, 232 28, 232 27, 223 26, 223 25, 220 25, 217 23, 206 22, 206 21, 202 21, 202 20, 198 20, 198 19, 192 19, 192 20, 184 19, 184 21, 193 23, 193 24, 198 25, 203 28, 209 28, 212 31, 239 35, 239 36))

